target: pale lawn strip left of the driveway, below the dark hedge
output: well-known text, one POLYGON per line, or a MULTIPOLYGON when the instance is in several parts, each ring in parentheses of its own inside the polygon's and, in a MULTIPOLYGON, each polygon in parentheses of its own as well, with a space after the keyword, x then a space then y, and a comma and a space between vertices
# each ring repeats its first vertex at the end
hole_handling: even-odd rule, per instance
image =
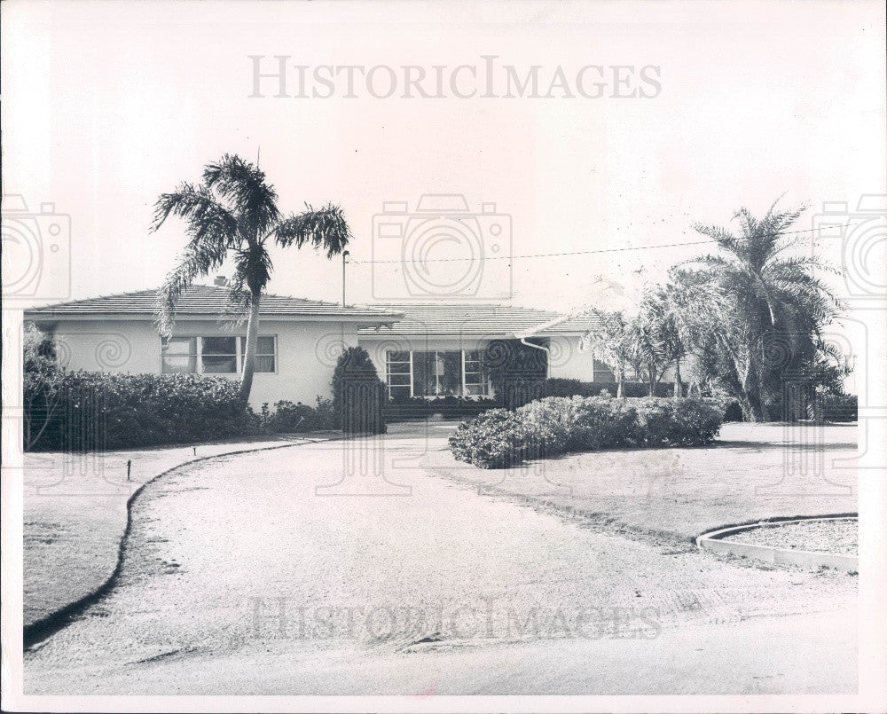
POLYGON ((281 448, 331 435, 277 435, 263 441, 104 454, 27 453, 23 624, 33 624, 80 600, 111 577, 126 530, 127 502, 144 483, 195 459, 281 448))

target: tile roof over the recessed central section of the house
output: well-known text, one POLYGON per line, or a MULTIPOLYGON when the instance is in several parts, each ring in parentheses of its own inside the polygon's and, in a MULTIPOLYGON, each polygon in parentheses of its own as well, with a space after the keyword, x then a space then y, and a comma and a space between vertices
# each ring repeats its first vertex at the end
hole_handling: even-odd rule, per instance
MULTIPOLYGON (((406 303, 381 305, 401 312, 404 318, 390 326, 362 327, 361 334, 475 334, 498 336, 534 331, 562 318, 539 332, 542 335, 584 332, 591 318, 567 318, 554 310, 513 307, 511 305, 406 303)), ((533 332, 536 333, 536 332, 533 332)))

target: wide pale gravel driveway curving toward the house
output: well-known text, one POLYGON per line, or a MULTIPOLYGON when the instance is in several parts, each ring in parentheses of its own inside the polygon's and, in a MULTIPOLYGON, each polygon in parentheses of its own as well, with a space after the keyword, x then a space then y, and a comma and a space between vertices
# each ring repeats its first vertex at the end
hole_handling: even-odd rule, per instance
POLYGON ((855 578, 583 529, 397 460, 423 444, 256 452, 149 485, 122 577, 27 653, 26 693, 855 690, 855 578))

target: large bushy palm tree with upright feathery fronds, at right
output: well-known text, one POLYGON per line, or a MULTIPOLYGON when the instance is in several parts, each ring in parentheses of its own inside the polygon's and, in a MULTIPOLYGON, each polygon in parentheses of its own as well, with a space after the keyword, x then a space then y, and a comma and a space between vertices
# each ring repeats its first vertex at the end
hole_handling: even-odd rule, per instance
POLYGON ((768 404, 774 401, 774 387, 786 365, 819 351, 821 327, 842 307, 815 275, 815 271, 835 271, 815 255, 789 253, 805 241, 803 231, 789 231, 804 208, 777 211, 777 202, 761 219, 747 208, 740 209, 734 215, 739 235, 697 224, 696 231, 720 250, 718 255, 689 262, 702 269, 703 278, 717 283, 729 300, 730 310, 710 328, 718 349, 733 365, 730 378, 750 420, 769 420, 768 404), (779 364, 768 354, 773 344, 781 346, 779 364))

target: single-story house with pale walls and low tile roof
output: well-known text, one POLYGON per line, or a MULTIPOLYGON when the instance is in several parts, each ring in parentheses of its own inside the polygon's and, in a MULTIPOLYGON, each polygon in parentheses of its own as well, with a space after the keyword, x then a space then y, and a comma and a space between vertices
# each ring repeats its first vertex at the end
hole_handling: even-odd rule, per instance
MULTIPOLYGON (((59 302, 25 311, 56 342, 68 369, 116 373, 202 373, 237 378, 246 323, 221 321, 228 291, 193 286, 180 298, 174 334, 161 340, 156 290, 59 302)), ((491 341, 520 340, 546 352, 548 376, 613 381, 583 349, 581 320, 507 305, 341 306, 266 294, 260 310, 250 403, 312 404, 329 396, 343 346, 373 359, 389 396, 493 396, 484 365, 491 341)))

